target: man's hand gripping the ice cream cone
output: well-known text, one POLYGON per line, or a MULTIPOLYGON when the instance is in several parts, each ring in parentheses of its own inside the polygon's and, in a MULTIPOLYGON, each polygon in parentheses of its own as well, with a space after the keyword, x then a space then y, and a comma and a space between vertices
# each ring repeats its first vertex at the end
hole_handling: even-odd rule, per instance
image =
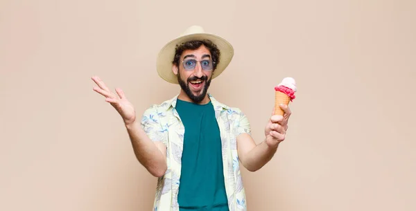
POLYGON ((291 116, 291 109, 285 104, 281 104, 280 107, 284 111, 283 116, 272 115, 264 129, 266 144, 269 147, 277 147, 285 139, 286 131, 288 130, 288 119, 291 116))

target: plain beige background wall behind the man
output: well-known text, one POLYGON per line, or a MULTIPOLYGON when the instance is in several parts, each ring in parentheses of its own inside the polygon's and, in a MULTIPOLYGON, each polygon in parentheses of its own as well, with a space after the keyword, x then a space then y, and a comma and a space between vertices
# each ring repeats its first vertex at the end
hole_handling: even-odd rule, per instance
POLYGON ((179 87, 159 48, 200 24, 236 55, 211 85, 257 142, 295 77, 287 140, 243 172, 249 211, 416 210, 415 1, 0 1, 0 210, 151 210, 156 179, 92 91, 141 114, 179 87))

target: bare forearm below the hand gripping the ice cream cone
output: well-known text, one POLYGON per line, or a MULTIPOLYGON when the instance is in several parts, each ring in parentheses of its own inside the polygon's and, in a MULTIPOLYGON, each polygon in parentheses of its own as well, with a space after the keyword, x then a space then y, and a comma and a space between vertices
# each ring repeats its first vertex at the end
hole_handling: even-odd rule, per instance
POLYGON ((277 151, 278 144, 276 146, 270 147, 266 144, 266 141, 263 141, 256 147, 248 152, 247 156, 245 157, 245 167, 250 172, 255 172, 266 163, 268 163, 272 157, 275 155, 277 151))

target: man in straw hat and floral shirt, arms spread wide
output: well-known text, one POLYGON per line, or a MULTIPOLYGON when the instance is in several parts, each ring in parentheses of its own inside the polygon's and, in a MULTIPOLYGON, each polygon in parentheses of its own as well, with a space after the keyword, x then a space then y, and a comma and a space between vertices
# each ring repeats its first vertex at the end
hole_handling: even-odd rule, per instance
POLYGON ((180 84, 171 100, 153 105, 136 119, 121 89, 112 93, 98 78, 94 91, 123 118, 137 159, 158 178, 154 210, 247 210, 240 163, 257 171, 284 140, 290 109, 271 116, 265 138, 256 145, 248 118, 207 93, 212 79, 231 62, 234 49, 222 37, 191 26, 168 42, 157 58, 157 72, 180 84))

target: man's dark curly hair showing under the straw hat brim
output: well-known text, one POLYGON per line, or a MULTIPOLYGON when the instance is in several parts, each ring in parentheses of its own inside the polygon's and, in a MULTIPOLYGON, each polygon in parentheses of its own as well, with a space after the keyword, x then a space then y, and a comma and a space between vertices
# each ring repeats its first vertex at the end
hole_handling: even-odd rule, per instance
POLYGON ((175 64, 179 67, 179 61, 180 61, 180 55, 186 50, 196 50, 200 46, 204 45, 208 48, 209 53, 211 53, 212 62, 214 62, 214 70, 216 69, 216 66, 220 63, 220 50, 217 48, 216 44, 211 42, 209 39, 203 39, 203 40, 191 40, 188 42, 184 42, 180 45, 176 45, 175 48, 175 56, 173 57, 172 64, 175 64))

